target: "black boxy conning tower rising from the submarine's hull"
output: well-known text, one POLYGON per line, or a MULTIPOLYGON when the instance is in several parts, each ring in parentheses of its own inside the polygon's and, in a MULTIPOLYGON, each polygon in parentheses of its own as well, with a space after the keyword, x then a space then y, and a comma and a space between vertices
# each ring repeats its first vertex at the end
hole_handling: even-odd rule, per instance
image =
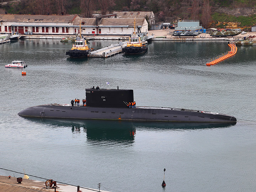
POLYGON ((133 102, 131 89, 85 89, 86 106, 89 107, 127 107, 133 102))

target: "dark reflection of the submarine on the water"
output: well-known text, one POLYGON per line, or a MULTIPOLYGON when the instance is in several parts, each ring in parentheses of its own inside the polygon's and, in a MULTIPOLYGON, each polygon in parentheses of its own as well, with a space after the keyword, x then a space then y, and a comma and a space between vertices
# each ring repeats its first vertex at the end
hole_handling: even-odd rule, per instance
MULTIPOLYGON (((181 123, 181 122, 130 122, 108 120, 70 120, 70 119, 41 119, 28 118, 34 122, 50 124, 58 127, 71 127, 73 133, 85 132, 90 142, 114 141, 117 143, 134 142, 136 131, 168 131, 185 129, 226 128, 236 124, 229 123, 181 123)), ((57 127, 54 127, 57 128, 57 127)))

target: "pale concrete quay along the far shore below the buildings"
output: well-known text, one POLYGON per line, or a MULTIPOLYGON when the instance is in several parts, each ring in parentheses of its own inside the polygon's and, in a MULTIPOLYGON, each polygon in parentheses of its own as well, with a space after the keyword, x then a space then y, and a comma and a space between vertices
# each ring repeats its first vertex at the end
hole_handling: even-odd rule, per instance
MULTIPOLYGON (((207 40, 226 40, 226 41, 232 41, 232 40, 237 40, 237 39, 242 39, 243 37, 247 36, 256 36, 256 32, 247 32, 246 34, 239 34, 237 36, 233 37, 211 37, 210 34, 208 33, 201 33, 198 36, 195 37, 174 37, 172 36, 174 30, 171 29, 161 29, 161 30, 151 30, 149 31, 149 35, 154 35, 154 38, 152 39, 153 41, 158 41, 158 40, 165 40, 165 41, 207 41, 207 40)), ((62 39, 64 36, 62 35, 23 35, 24 38, 42 38, 42 39, 62 39)), ((129 36, 84 36, 87 39, 99 39, 99 40, 127 40, 129 39, 129 36)), ((256 39, 256 38, 254 38, 256 39)))

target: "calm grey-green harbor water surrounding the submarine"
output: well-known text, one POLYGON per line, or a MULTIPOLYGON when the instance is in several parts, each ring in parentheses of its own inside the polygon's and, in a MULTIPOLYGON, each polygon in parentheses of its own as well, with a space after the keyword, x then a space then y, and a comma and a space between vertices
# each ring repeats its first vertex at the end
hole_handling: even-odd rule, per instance
MULTIPOLYGON (((90 46, 99 49, 117 42, 90 41, 90 46)), ((25 169, 26 174, 82 187, 101 183, 102 190, 112 192, 255 191, 256 47, 238 47, 234 57, 207 67, 229 50, 227 42, 155 41, 144 55, 83 59, 65 55, 71 46, 49 39, 0 45, 0 168, 25 169), (28 67, 4 68, 12 60, 25 60, 28 67), (82 100, 85 88, 97 85, 133 89, 139 106, 220 112, 238 122, 17 116, 34 105, 82 100)), ((0 175, 13 173, 0 170, 0 175)))

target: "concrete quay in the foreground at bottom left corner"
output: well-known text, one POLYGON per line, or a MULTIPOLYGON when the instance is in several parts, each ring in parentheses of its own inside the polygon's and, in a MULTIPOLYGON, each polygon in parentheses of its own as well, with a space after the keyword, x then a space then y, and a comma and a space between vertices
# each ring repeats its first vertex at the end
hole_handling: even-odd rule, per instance
MULTIPOLYGON (((56 191, 60 192, 77 192, 76 186, 65 185, 57 182, 56 191)), ((35 181, 31 179, 22 178, 22 182, 19 184, 17 182, 17 177, 8 176, 0 176, 0 191, 1 192, 34 192, 34 191, 42 191, 42 192, 52 192, 54 188, 46 189, 45 181, 35 181)), ((98 191, 96 189, 85 189, 80 187, 80 191, 82 192, 94 192, 98 191)), ((102 191, 101 192, 109 192, 102 191)))

